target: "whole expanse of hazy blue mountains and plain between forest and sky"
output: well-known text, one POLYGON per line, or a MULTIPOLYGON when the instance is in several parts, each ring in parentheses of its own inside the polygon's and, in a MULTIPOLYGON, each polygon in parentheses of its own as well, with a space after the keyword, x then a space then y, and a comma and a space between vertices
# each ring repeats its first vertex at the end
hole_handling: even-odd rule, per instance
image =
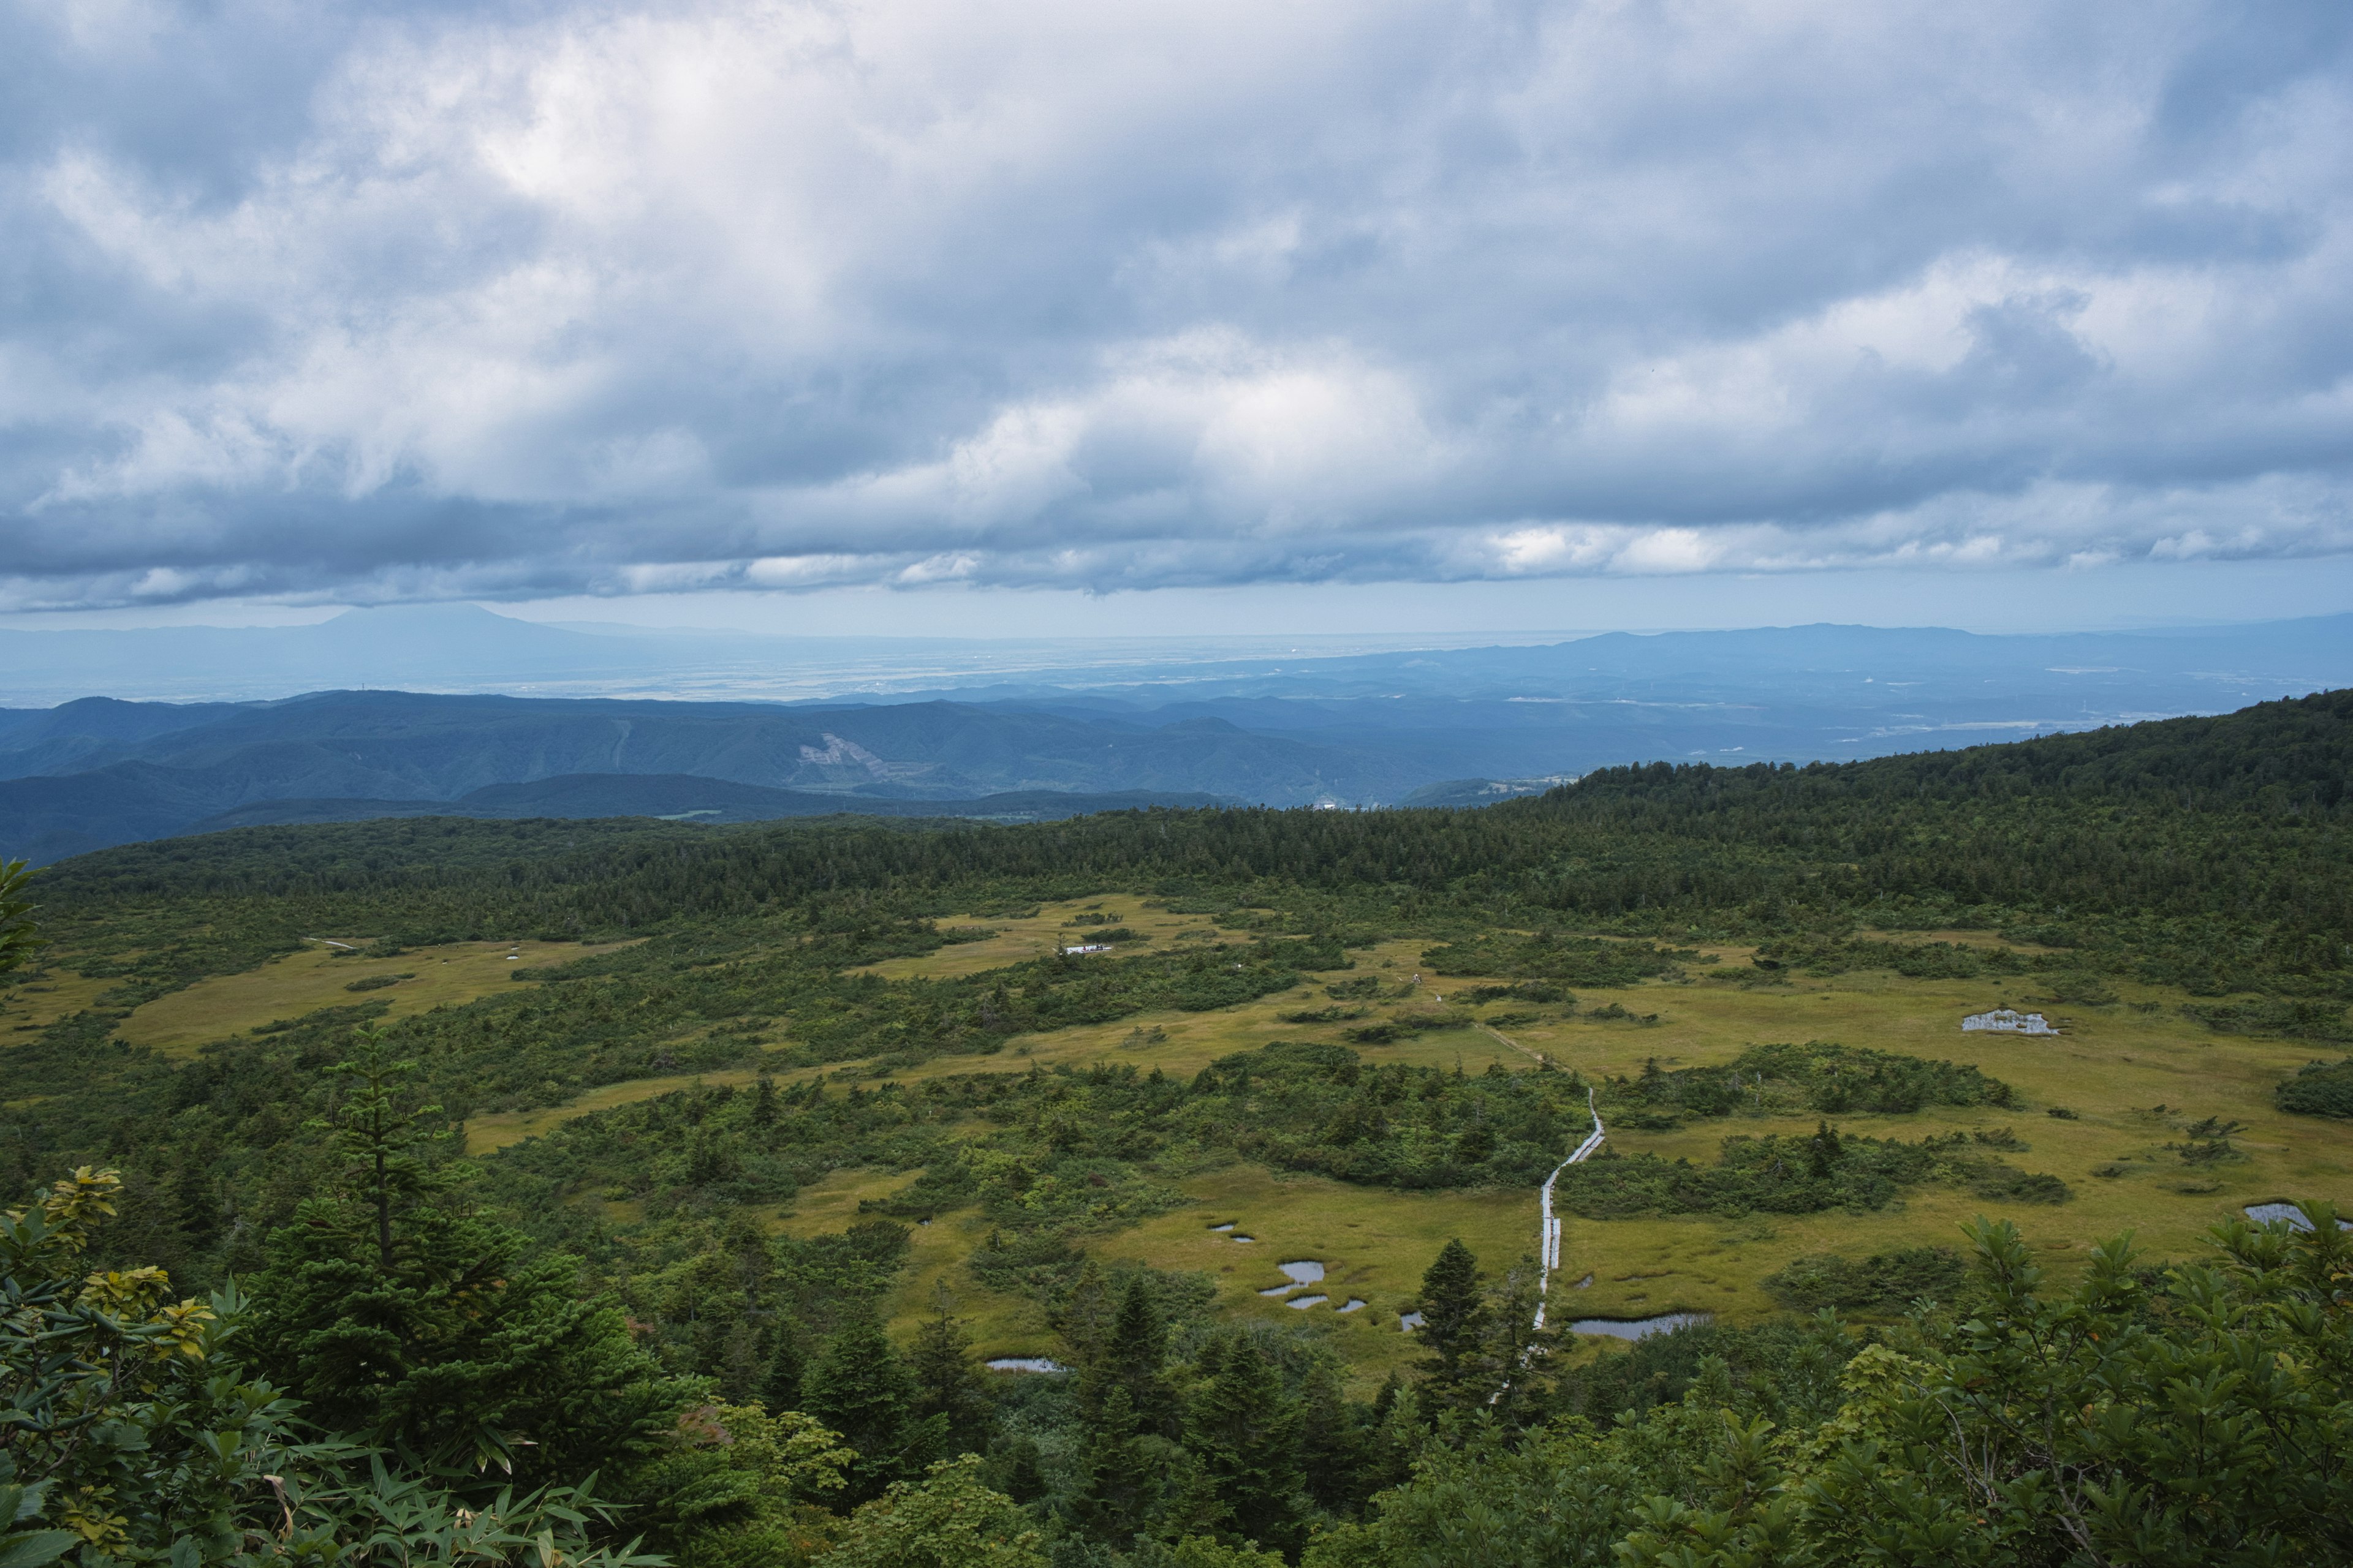
POLYGON ((1614 762, 1873 757, 2348 686, 2353 616, 2052 637, 1805 625, 1313 656, 605 637, 454 607, 249 632, 0 632, 0 654, 16 661, 0 682, 19 686, 68 679, 87 654, 80 679, 99 689, 146 689, 132 663, 228 682, 207 661, 240 665, 245 686, 231 689, 348 677, 353 663, 384 684, 438 684, 464 665, 501 689, 5 708, 0 853, 54 860, 386 813, 1033 820, 1153 802, 1480 804, 1614 762), (736 675, 708 663, 713 649, 736 675), (600 668, 616 684, 729 684, 755 656, 786 686, 833 670, 866 691, 824 703, 525 691, 558 668, 555 684, 574 689, 605 679, 600 668))

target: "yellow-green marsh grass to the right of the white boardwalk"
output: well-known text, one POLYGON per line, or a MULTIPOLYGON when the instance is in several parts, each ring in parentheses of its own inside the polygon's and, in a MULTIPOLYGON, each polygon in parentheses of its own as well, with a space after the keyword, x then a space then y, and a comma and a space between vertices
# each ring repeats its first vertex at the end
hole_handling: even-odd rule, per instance
MULTIPOLYGON (((2158 997, 2148 987, 2134 987, 2158 997)), ((1645 985, 1579 992, 1584 1006, 1624 1004, 1657 1011, 1652 1027, 1624 1023, 1541 1023, 1513 1030, 1522 1044, 1553 1056, 1562 1067, 1595 1074, 1635 1074, 1645 1060, 1661 1067, 1699 1067, 1732 1060, 1746 1044, 1831 1039, 1847 1046, 1901 1051, 1908 1056, 1972 1063, 2009 1081, 2017 1107, 1929 1107, 1913 1117, 1842 1114, 1833 1121, 1849 1133, 1915 1140, 1932 1131, 1991 1131, 2009 1126, 2026 1152, 1986 1150, 2026 1171, 2047 1171, 2073 1187, 2059 1206, 2000 1204, 1951 1187, 1922 1187, 1880 1213, 1758 1215, 1753 1220, 1607 1220, 1567 1222, 1567 1267, 1588 1258, 1598 1272, 1595 1314, 1649 1312, 1668 1305, 1708 1307, 1734 1316, 1772 1307, 1755 1286, 1788 1258, 1840 1251, 1866 1255, 1894 1246, 1958 1244, 1958 1225, 1977 1213, 2009 1218, 2052 1262, 2080 1265, 2092 1241, 2132 1229, 2139 1246, 2160 1258, 2195 1258, 2205 1232, 2273 1197, 2353 1199, 2353 1126, 2315 1117, 2289 1117, 2271 1091, 2313 1058, 2308 1044, 2242 1039, 2207 1032, 2174 1009, 2141 1013, 2127 1006, 2068 1009, 2068 1032, 2059 1039, 2019 1034, 1962 1034, 1960 1018, 1998 999, 1995 983, 1906 980, 1885 973, 1802 980, 1791 987, 1734 990, 1706 985, 1645 985), (2165 1107, 2158 1112, 2155 1107, 2165 1107), (2052 1107, 2075 1112, 2057 1119, 2052 1107), (2179 1147, 2184 1128, 2202 1117, 2242 1124, 2233 1143, 2238 1161, 2191 1166, 2179 1147), (1635 1241, 1642 1232, 1680 1241, 1635 1241), (1741 1262, 1718 1269, 1708 1286, 1668 1300, 1645 1286, 1640 1295, 1612 1291, 1628 1272, 1647 1272, 1645 1246, 1666 1246, 1685 1258, 1727 1253, 1741 1262)), ((1609 1147, 1621 1154, 1657 1152, 1694 1164, 1713 1164, 1718 1143, 1732 1133, 1809 1133, 1817 1117, 1722 1117, 1652 1133, 1612 1128, 1609 1147)))

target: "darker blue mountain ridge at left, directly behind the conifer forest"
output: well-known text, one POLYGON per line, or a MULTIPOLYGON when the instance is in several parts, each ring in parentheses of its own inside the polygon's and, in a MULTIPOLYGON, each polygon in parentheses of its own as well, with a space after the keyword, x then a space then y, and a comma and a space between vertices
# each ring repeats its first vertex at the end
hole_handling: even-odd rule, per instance
MULTIPOLYGON (((511 816, 525 797, 501 790, 581 776, 692 776, 762 792, 718 799, 727 820, 944 809, 1038 816, 1047 811, 1038 802, 976 802, 1040 792, 1120 804, 1299 804, 1332 790, 1405 788, 1402 771, 1379 755, 1252 736, 1219 719, 1153 729, 955 703, 784 708, 405 691, 212 705, 193 724, 172 710, 125 712, 134 708, 146 705, 92 698, 0 731, 0 748, 33 741, 0 750, 0 820, 14 823, 12 853, 52 860, 226 823, 407 809, 511 816), (264 809, 273 802, 282 806, 264 809)), ((534 799, 527 809, 541 816, 664 816, 706 804, 654 811, 619 785, 574 788, 569 802, 534 799)))

